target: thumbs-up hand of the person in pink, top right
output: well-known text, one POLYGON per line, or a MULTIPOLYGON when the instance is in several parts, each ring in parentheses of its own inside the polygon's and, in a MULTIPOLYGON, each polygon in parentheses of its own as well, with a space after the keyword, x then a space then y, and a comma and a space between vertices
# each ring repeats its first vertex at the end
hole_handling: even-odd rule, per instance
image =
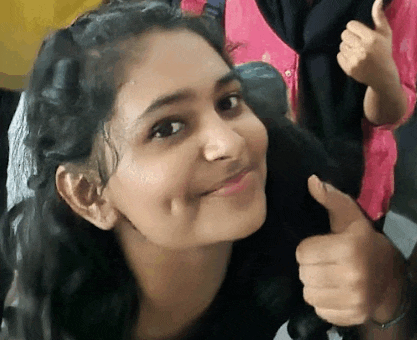
POLYGON ((359 21, 349 21, 343 31, 337 61, 356 81, 381 91, 393 81, 399 82, 392 57, 392 31, 383 10, 383 0, 372 6, 375 29, 359 21))

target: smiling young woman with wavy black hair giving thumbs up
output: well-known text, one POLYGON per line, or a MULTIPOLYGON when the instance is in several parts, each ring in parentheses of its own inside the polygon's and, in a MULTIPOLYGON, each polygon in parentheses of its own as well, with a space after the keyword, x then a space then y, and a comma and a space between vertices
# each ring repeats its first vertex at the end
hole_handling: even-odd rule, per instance
POLYGON ((45 40, 26 92, 34 196, 2 230, 19 338, 273 339, 290 319, 293 338, 327 339, 313 307, 404 320, 392 246, 348 196, 307 187, 349 188, 344 169, 242 91, 221 32, 160 3, 45 40))

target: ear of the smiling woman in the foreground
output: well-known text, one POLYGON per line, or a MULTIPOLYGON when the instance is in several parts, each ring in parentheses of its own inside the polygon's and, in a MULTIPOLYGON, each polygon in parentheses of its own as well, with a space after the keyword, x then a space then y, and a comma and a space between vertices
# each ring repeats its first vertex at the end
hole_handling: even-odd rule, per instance
POLYGON ((70 172, 63 165, 55 174, 58 193, 71 209, 96 227, 110 230, 119 221, 120 213, 97 182, 82 173, 70 172))

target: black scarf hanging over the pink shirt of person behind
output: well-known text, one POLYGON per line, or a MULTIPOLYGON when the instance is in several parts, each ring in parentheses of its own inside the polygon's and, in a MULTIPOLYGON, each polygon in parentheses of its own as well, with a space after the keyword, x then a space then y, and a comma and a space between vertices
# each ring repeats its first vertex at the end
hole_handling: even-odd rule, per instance
MULTIPOLYGON (((387 5, 388 1, 385 1, 387 5)), ((373 27, 374 0, 257 0, 276 34, 300 55, 300 124, 324 141, 334 158, 363 175, 362 128, 366 86, 337 62, 341 33, 350 20, 373 27)))

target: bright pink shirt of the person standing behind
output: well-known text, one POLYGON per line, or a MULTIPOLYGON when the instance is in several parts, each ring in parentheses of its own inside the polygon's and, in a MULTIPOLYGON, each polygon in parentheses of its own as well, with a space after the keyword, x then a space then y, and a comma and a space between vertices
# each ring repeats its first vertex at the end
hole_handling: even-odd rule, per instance
MULTIPOLYGON (((181 7, 185 11, 200 14, 205 3, 206 0, 182 0, 181 7)), ((417 0, 393 0, 385 14, 393 31, 393 57, 408 97, 403 123, 411 116, 416 100, 417 0)), ((227 0, 225 30, 229 42, 239 43, 232 54, 236 64, 262 60, 281 72, 296 115, 299 56, 269 27, 256 1, 227 0)), ((357 201, 373 220, 387 212, 394 192, 397 147, 393 128, 388 125, 374 126, 363 119, 365 172, 357 201)))

